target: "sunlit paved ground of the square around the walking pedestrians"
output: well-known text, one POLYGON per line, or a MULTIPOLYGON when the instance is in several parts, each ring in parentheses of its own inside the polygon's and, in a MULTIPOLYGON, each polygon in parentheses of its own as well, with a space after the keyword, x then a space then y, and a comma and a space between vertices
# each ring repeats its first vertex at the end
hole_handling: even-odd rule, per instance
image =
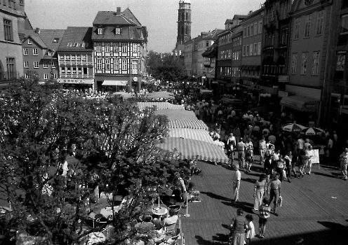
MULTIPOLYGON (((253 188, 262 167, 255 163, 250 173, 241 171, 239 203, 232 204, 232 172, 226 165, 198 162, 202 173, 192 176, 202 202, 189 202, 181 209, 182 231, 186 245, 221 244, 227 241, 228 226, 236 209, 253 214, 258 233, 258 214, 253 213, 253 188), (190 216, 184 217, 187 212, 190 216)), ((295 244, 302 237, 306 245, 348 244, 348 181, 340 171, 329 167, 312 167, 312 174, 302 179, 283 181, 283 205, 271 214, 265 238, 255 237, 251 244, 295 244)), ((273 204, 272 204, 273 209, 273 204)))

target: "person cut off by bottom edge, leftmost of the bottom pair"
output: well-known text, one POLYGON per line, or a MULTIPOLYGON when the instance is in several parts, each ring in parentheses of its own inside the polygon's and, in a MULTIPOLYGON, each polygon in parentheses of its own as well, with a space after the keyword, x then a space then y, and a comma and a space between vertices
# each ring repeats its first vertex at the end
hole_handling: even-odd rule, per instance
POLYGON ((248 221, 243 217, 243 209, 237 209, 237 216, 232 218, 230 242, 232 245, 244 245, 246 230, 248 230, 248 221), (231 236, 232 235, 232 236, 231 236))

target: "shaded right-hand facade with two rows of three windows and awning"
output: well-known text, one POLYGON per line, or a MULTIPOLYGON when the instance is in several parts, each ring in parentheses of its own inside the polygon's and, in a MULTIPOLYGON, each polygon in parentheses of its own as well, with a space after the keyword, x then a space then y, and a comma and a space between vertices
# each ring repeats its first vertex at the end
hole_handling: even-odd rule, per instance
POLYGON ((321 121, 321 100, 332 1, 295 0, 290 15, 289 83, 281 94, 283 109, 297 115, 303 125, 321 121))

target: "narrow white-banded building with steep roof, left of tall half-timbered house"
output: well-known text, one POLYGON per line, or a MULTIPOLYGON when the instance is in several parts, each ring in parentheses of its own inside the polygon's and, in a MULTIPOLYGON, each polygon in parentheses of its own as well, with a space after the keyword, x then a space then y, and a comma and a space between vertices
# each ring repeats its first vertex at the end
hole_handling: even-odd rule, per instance
POLYGON ((67 27, 58 47, 58 83, 65 88, 94 89, 92 27, 67 27))

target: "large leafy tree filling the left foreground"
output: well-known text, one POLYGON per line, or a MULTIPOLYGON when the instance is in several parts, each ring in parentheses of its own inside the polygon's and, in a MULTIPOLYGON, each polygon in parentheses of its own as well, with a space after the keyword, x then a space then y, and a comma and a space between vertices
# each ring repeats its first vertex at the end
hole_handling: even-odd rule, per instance
POLYGON ((107 221, 114 233, 106 243, 136 239, 134 224, 161 188, 173 184, 175 172, 185 170, 156 147, 168 122, 153 112, 117 97, 83 99, 53 81, 14 83, 0 99, 0 193, 12 208, 0 216, 3 243, 13 230, 45 237, 48 244, 74 244, 105 228, 88 226, 88 213, 98 209, 97 186, 110 194, 110 206, 118 195, 130 197, 107 221), (76 160, 60 186, 69 155, 76 160))

